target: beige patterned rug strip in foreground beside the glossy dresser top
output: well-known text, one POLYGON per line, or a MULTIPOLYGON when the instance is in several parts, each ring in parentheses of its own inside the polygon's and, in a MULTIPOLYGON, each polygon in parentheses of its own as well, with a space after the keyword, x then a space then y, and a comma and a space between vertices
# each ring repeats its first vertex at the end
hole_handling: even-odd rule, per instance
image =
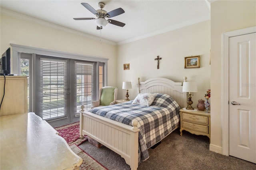
POLYGON ((82 150, 76 144, 72 144, 70 148, 83 159, 83 163, 80 166, 79 170, 108 170, 97 160, 88 155, 84 150, 82 150))

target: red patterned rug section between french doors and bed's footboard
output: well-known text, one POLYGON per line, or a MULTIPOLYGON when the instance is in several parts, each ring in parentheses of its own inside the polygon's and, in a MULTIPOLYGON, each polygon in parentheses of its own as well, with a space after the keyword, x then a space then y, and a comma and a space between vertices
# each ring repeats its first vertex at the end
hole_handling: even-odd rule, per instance
POLYGON ((55 130, 57 130, 59 135, 66 140, 69 146, 72 144, 80 145, 88 139, 86 136, 83 139, 80 138, 79 122, 56 127, 55 130))

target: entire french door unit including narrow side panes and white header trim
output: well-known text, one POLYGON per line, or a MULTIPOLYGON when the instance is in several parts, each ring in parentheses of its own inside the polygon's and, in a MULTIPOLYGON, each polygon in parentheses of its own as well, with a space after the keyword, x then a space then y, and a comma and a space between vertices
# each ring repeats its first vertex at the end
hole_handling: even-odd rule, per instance
POLYGON ((54 127, 79 121, 80 105, 90 109, 91 101, 98 99, 99 86, 107 85, 106 58, 11 45, 13 73, 29 74, 30 112, 54 127))

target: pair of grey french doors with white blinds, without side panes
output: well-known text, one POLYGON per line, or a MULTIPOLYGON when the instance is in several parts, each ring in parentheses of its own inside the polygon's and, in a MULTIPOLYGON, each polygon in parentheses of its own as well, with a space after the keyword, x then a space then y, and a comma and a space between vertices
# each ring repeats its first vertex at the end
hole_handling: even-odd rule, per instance
POLYGON ((36 114, 50 125, 79 121, 94 99, 95 62, 36 55, 36 114))

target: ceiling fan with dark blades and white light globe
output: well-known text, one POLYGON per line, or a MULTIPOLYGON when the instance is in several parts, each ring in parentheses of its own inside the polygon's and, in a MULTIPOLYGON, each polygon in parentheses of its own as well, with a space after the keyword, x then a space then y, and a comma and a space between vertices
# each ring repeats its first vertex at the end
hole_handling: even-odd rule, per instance
POLYGON ((100 10, 94 10, 92 6, 90 6, 87 3, 81 3, 87 10, 92 12, 97 18, 73 18, 74 20, 94 20, 94 22, 97 24, 97 30, 101 30, 104 26, 106 26, 108 23, 114 24, 116 26, 123 27, 125 26, 124 23, 116 21, 116 20, 106 20, 105 18, 112 18, 114 16, 118 16, 120 14, 124 13, 124 10, 122 8, 117 8, 115 10, 112 10, 110 12, 106 12, 105 10, 102 10, 104 8, 105 4, 103 2, 99 2, 100 10))

